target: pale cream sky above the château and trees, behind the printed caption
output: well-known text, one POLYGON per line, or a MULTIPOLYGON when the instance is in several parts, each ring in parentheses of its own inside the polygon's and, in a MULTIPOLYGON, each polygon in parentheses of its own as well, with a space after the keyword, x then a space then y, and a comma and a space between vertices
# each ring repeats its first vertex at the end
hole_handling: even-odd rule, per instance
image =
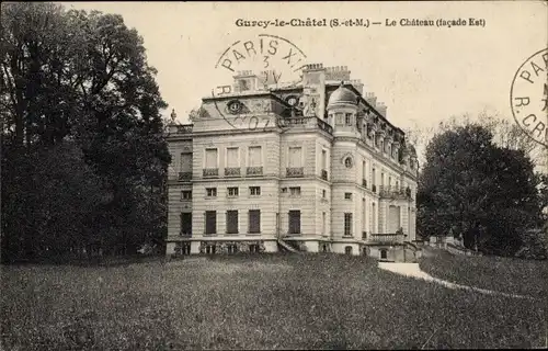
MULTIPOLYGON (((180 122, 222 77, 215 68, 235 42, 277 35, 309 63, 347 66, 388 106, 398 127, 429 127, 450 116, 498 112, 512 118, 520 66, 548 46, 546 1, 465 2, 64 2, 122 14, 144 37, 157 82, 180 122), (369 27, 239 27, 242 20, 364 19, 369 27), (401 19, 483 19, 484 26, 386 26, 401 19)), ((226 75, 225 75, 226 76, 226 75)), ((226 77, 225 77, 226 78, 226 77)), ((226 81, 224 81, 226 82, 226 81)), ((230 83, 230 82, 228 82, 230 83)))

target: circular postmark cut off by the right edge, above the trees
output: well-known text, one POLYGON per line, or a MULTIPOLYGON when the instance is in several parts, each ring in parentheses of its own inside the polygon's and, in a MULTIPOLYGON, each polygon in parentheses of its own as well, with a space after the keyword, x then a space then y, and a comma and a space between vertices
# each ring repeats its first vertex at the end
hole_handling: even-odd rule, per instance
POLYGON ((548 148, 548 48, 532 55, 517 69, 510 104, 517 125, 548 148))

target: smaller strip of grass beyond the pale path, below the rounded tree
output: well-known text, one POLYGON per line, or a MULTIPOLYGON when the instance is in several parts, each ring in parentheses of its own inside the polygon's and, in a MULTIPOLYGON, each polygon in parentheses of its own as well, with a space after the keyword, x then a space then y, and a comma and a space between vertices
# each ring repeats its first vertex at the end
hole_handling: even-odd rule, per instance
POLYGON ((449 282, 492 291, 548 297, 548 261, 467 257, 426 248, 421 269, 449 282))

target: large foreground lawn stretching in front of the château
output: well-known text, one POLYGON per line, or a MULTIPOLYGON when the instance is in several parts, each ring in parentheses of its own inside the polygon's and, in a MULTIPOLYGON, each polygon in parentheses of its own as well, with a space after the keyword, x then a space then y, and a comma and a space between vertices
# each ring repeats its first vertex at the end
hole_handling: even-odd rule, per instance
POLYGON ((233 256, 114 268, 3 267, 16 350, 545 346, 546 306, 447 290, 364 257, 233 256))

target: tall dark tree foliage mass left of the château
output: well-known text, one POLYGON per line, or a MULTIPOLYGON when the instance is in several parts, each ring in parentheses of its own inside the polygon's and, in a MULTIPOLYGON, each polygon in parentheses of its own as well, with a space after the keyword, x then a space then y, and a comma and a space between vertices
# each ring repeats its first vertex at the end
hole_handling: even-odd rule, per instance
POLYGON ((26 238, 4 253, 161 237, 165 103, 142 38, 119 15, 53 3, 1 16, 2 239, 26 238))

